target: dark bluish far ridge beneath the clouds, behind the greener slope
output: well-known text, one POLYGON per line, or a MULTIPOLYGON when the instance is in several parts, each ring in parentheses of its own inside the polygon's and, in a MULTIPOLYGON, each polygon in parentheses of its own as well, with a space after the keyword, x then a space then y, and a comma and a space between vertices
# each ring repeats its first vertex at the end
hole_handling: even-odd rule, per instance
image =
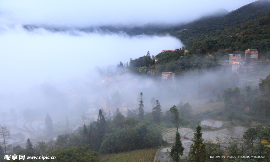
POLYGON ((167 34, 179 38, 185 45, 191 45, 202 35, 212 34, 228 28, 241 26, 248 21, 269 15, 270 1, 259 0, 234 10, 222 17, 208 17, 183 26, 158 28, 157 26, 134 27, 127 31, 129 35, 167 34), (187 30, 183 30, 187 29, 187 30), (181 31, 182 32, 178 32, 181 31))

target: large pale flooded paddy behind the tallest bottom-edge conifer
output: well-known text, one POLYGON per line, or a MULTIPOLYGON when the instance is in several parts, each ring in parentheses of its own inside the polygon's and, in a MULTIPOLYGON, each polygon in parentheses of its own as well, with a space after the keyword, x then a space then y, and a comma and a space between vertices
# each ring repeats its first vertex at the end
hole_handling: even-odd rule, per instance
MULTIPOLYGON (((210 140, 213 143, 218 143, 216 137, 220 138, 221 143, 228 143, 228 139, 233 138, 242 138, 245 131, 248 128, 245 127, 232 127, 224 128, 217 131, 204 131, 202 132, 202 138, 205 140, 210 140)), ((187 138, 193 138, 195 132, 190 132, 186 135, 187 138)))

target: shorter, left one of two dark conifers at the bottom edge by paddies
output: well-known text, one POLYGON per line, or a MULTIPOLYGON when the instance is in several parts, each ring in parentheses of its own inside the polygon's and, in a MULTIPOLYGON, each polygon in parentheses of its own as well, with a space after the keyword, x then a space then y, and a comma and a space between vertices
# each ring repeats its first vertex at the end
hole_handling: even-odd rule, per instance
POLYGON ((180 134, 179 132, 176 132, 175 143, 171 147, 171 152, 170 152, 171 159, 173 159, 173 161, 179 162, 180 155, 183 156, 183 151, 184 151, 184 147, 180 139, 180 134))

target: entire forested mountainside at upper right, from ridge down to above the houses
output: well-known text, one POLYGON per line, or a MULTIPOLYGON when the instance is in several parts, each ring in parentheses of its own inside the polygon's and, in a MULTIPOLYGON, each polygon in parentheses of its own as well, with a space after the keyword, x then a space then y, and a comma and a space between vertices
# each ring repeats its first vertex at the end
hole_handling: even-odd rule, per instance
POLYGON ((170 34, 192 48, 193 53, 215 52, 225 48, 230 48, 232 51, 242 51, 247 48, 268 51, 270 49, 269 14, 270 1, 259 0, 223 17, 203 18, 169 28, 151 25, 135 27, 127 33, 129 35, 170 34))

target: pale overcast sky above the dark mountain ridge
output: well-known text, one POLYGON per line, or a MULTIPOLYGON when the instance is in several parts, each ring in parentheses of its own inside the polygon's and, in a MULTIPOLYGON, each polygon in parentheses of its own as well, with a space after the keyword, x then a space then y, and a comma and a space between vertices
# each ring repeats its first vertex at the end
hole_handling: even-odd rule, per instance
POLYGON ((224 8, 229 12, 254 0, 1 0, 0 12, 23 24, 97 26, 189 21, 224 8))

